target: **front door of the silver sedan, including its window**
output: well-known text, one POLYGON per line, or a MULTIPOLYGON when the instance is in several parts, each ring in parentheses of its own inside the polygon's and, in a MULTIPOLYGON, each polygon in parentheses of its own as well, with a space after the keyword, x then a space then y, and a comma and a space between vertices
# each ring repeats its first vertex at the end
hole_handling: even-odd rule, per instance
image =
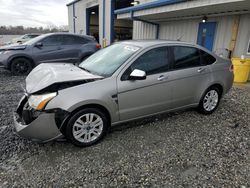
POLYGON ((138 57, 117 80, 121 120, 165 111, 171 106, 168 47, 153 48, 138 57), (129 80, 134 69, 143 70, 145 80, 129 80))

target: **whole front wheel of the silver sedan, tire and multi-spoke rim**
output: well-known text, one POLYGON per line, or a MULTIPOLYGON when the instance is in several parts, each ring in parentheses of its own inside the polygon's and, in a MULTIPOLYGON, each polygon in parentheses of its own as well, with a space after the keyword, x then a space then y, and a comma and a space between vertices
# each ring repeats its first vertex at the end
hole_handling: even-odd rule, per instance
POLYGON ((73 115, 66 127, 66 138, 78 147, 98 143, 108 131, 105 114, 96 108, 86 108, 73 115))

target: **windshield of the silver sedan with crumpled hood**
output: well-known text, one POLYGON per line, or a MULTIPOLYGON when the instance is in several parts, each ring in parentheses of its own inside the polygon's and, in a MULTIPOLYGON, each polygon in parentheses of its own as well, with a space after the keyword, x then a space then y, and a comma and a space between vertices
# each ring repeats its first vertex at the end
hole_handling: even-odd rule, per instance
POLYGON ((93 74, 109 77, 137 50, 139 48, 136 46, 113 44, 90 56, 79 67, 93 74))

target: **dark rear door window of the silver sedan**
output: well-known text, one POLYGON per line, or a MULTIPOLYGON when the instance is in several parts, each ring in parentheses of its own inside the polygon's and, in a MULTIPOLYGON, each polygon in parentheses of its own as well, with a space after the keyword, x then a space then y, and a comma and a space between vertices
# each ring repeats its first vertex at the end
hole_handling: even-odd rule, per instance
POLYGON ((174 46, 174 69, 184 69, 200 66, 200 52, 196 48, 174 46))

